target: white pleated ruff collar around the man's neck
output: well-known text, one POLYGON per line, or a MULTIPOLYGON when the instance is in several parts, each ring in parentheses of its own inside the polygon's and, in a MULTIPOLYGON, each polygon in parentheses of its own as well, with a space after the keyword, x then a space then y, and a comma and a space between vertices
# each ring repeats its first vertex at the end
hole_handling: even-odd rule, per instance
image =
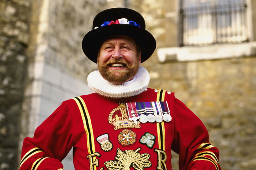
POLYGON ((110 98, 132 97, 142 93, 149 84, 149 73, 146 68, 139 66, 135 77, 123 84, 113 84, 101 76, 99 70, 91 72, 88 77, 88 86, 95 93, 110 98))

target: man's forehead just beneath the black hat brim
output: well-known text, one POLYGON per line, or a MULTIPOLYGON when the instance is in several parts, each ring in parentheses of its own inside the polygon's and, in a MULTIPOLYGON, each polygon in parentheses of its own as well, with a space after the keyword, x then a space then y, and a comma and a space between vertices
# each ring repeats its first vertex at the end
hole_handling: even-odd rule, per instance
POLYGON ((136 45, 135 40, 129 36, 111 36, 108 39, 104 40, 102 45, 109 44, 109 43, 125 43, 125 44, 136 45))

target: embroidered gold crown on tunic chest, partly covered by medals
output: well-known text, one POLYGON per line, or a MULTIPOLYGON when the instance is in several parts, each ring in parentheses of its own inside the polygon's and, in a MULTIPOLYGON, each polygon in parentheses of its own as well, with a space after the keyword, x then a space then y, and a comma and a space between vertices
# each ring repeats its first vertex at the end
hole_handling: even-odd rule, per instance
POLYGON ((125 102, 121 100, 119 101, 119 106, 110 112, 108 116, 108 123, 112 125, 114 130, 141 127, 139 122, 135 123, 129 120, 126 109, 125 102))

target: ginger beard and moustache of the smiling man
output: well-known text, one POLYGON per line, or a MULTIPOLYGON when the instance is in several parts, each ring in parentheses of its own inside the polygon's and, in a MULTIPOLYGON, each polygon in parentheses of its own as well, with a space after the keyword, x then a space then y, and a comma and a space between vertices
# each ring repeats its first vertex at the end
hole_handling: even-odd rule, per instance
POLYGON ((139 59, 136 57, 135 63, 131 64, 124 61, 123 59, 112 59, 106 63, 101 63, 101 59, 99 59, 98 68, 101 76, 105 80, 114 84, 121 84, 132 80, 133 77, 137 74, 139 70, 139 59), (110 64, 112 63, 123 63, 125 64, 125 69, 110 70, 110 64))

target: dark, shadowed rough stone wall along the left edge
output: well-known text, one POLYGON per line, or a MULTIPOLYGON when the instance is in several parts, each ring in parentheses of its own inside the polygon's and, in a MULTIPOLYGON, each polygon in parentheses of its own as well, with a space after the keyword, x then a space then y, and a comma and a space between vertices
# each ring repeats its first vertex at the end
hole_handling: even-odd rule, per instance
POLYGON ((30 0, 0 0, 0 170, 18 169, 30 0))

